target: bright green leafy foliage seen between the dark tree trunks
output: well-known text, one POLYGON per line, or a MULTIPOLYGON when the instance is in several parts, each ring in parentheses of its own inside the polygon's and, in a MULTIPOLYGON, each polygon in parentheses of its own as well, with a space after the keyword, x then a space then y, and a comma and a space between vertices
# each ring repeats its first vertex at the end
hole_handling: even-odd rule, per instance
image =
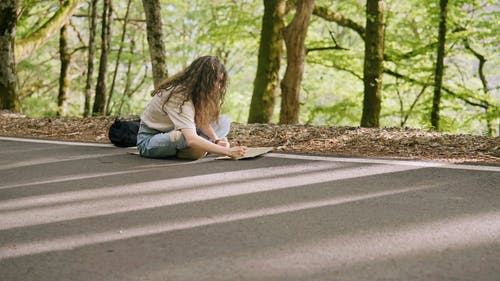
MULTIPOLYGON (((101 2, 101 1, 99 1, 101 2)), ((113 1, 114 17, 123 19, 128 0, 113 1)), ((247 120, 256 73, 262 1, 163 0, 162 18, 170 75, 200 55, 221 57, 230 74, 223 112, 234 121, 247 120)), ((365 25, 364 0, 316 0, 361 26, 365 25)), ((433 75, 439 22, 435 0, 386 0, 386 29, 381 124, 428 128, 432 104, 433 75), (390 74, 389 71, 392 73, 390 74), (394 75, 397 73, 398 75, 394 75), (425 88, 425 89, 424 89, 425 88), (422 92, 422 89, 424 91, 422 92), (405 121, 405 122, 403 122, 405 121)), ((59 7, 58 1, 24 0, 17 37, 23 38, 41 26, 59 7)), ((141 0, 132 0, 126 39, 121 54, 111 114, 140 114, 150 99, 151 66, 141 0), (129 65, 131 66, 129 68, 129 65)), ((71 19, 71 84, 65 114, 81 116, 86 80, 89 1, 82 1, 71 19)), ((99 4, 98 9, 101 8, 99 4)), ((483 134, 487 121, 498 130, 500 106, 500 6, 494 0, 449 2, 446 44, 442 128, 448 132, 483 134), (479 77, 479 60, 470 49, 484 56, 488 88, 479 77), (488 104, 485 108, 473 106, 488 104), (459 118, 457 118, 457 116, 459 118)), ((117 51, 121 44, 123 20, 112 23, 108 72, 111 85, 117 51)), ((97 25, 97 46, 100 25, 97 25)), ((28 115, 54 115, 57 104, 58 39, 18 65, 22 110, 28 115)), ((313 17, 306 42, 301 88, 300 120, 308 124, 357 126, 363 100, 364 41, 353 30, 313 17), (322 49, 322 50, 319 50, 322 49)), ((97 79, 100 50, 94 57, 97 79)), ((286 55, 286 54, 284 54, 286 55)), ((284 72, 285 58, 282 60, 284 72)), ((95 88, 95 86, 94 86, 95 88)), ((277 100, 279 105, 279 100, 277 100)), ((279 108, 274 111, 276 116, 279 108)), ((277 117, 274 118, 274 122, 277 117)), ((498 131, 495 132, 498 134, 498 131)))

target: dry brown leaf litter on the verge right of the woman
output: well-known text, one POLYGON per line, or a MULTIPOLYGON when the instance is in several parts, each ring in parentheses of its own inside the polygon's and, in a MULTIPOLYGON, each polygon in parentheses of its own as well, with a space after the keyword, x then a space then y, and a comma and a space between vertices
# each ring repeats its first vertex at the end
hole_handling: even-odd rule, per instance
POLYGON ((303 125, 233 126, 232 137, 278 151, 369 156, 455 163, 500 163, 500 138, 451 135, 417 129, 303 125))

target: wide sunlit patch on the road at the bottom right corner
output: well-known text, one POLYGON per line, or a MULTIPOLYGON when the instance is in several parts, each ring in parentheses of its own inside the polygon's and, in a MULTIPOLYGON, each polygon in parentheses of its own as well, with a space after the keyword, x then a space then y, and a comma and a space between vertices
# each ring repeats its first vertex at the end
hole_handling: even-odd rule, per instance
MULTIPOLYGON (((308 280, 319 272, 347 270, 408 256, 438 253, 450 249, 500 244, 500 212, 464 215, 403 227, 350 233, 318 240, 300 241, 263 248, 251 255, 242 253, 197 260, 168 267, 153 276, 217 275, 231 264, 230 272, 248 280, 308 280), (258 270, 256 270, 258 269, 258 270)), ((142 276, 145 277, 145 276, 142 276)))

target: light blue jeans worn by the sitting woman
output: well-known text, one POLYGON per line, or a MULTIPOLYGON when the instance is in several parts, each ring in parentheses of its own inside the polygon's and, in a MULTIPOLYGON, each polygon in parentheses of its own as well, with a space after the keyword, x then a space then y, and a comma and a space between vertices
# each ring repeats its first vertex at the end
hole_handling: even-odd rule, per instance
MULTIPOLYGON (((231 129, 231 121, 225 115, 219 116, 219 122, 211 124, 219 139, 225 138, 231 129)), ((206 135, 197 131, 198 135, 209 139, 206 135)), ((141 123, 139 133, 137 134, 137 148, 142 157, 148 158, 167 158, 177 154, 179 149, 187 148, 187 142, 184 135, 179 130, 170 132, 161 132, 149 128, 141 123)))

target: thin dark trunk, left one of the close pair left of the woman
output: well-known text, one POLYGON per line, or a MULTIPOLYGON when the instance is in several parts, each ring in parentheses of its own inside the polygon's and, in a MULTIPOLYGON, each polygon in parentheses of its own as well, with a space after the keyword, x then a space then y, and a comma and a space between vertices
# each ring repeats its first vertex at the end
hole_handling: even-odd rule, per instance
POLYGON ((95 36, 97 19, 97 1, 90 1, 90 23, 89 23, 89 46, 87 57, 87 79, 85 81, 85 104, 83 106, 83 116, 90 115, 90 102, 92 100, 92 76, 94 75, 94 55, 95 55, 95 36))

